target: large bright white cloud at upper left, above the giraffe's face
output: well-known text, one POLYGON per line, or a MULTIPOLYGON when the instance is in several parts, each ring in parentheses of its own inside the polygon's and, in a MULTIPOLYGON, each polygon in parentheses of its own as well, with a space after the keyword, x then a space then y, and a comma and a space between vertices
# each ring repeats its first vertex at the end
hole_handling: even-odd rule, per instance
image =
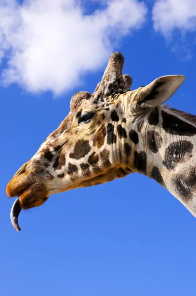
POLYGON ((0 58, 8 59, 1 82, 58 95, 101 67, 111 40, 139 29, 147 12, 137 0, 104 3, 86 15, 78 0, 0 0, 0 58))

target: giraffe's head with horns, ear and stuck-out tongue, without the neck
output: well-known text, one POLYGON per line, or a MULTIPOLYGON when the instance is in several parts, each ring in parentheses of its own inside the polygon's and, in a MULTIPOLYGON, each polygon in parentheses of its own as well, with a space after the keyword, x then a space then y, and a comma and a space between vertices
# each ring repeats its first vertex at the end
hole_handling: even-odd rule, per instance
POLYGON ((11 211, 17 230, 21 209, 40 206, 51 194, 145 173, 144 153, 138 153, 137 163, 134 153, 143 145, 139 131, 144 117, 176 91, 184 76, 163 76, 131 91, 123 64, 120 52, 111 54, 95 92, 72 96, 63 122, 8 183, 7 195, 19 196, 11 211))

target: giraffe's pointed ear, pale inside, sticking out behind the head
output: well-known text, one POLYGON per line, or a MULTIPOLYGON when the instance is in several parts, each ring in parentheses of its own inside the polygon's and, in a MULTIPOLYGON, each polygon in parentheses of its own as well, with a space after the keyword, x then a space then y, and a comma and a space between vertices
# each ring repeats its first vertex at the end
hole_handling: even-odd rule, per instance
POLYGON ((184 75, 167 75, 141 88, 137 100, 141 107, 156 107, 167 101, 184 82, 184 75))

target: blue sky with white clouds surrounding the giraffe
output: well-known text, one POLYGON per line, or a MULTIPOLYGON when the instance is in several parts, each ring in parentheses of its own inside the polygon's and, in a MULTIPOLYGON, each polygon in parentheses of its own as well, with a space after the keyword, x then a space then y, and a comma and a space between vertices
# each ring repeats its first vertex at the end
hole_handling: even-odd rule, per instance
POLYGON ((123 0, 120 7, 118 0, 81 6, 70 0, 62 9, 63 2, 47 12, 44 0, 23 10, 22 1, 0 1, 0 11, 6 8, 0 22, 0 295, 195 295, 196 219, 143 175, 51 196, 40 209, 21 213, 21 232, 11 225, 14 199, 6 197, 6 184, 65 118, 71 95, 94 91, 112 51, 124 54, 131 89, 159 76, 185 75, 168 103, 196 113, 194 1, 123 0), (62 22, 75 24, 73 8, 91 19, 58 27, 62 15, 62 22), (134 21, 119 16, 125 10, 131 18, 133 8, 134 21), (53 26, 47 23, 51 11, 53 26))

